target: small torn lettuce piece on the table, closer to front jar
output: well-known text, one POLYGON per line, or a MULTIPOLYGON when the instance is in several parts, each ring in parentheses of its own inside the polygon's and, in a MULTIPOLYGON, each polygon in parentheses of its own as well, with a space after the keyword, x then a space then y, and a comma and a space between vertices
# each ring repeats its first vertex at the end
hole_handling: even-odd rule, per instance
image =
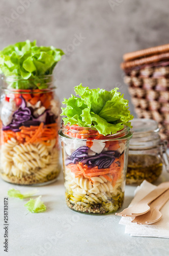
POLYGON ((24 205, 29 211, 31 212, 40 212, 46 210, 46 205, 43 204, 41 201, 41 196, 39 196, 36 199, 30 199, 25 205, 24 205))

